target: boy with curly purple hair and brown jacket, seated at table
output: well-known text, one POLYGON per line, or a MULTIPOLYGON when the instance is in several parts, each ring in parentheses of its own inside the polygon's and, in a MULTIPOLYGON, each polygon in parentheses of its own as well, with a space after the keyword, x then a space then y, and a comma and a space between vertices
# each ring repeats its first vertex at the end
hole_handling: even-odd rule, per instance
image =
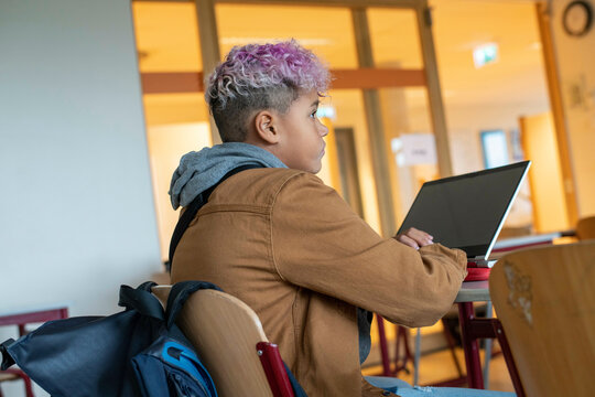
POLYGON ((454 301, 466 256, 416 229, 381 238, 314 175, 328 82, 294 41, 235 47, 217 66, 205 96, 224 143, 182 158, 172 204, 188 205, 238 167, 258 168, 213 191, 177 246, 172 282, 210 281, 250 305, 309 395, 390 395, 361 377, 366 311, 433 324, 454 301))

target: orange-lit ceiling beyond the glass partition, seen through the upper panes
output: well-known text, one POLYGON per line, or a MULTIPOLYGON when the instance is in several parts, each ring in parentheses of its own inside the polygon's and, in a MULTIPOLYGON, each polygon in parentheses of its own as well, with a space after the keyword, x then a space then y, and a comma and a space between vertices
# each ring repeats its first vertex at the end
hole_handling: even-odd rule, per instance
MULTIPOLYGON (((433 36, 447 106, 537 104, 548 95, 534 3, 524 0, 432 0, 433 36), (494 64, 476 68, 473 49, 494 42, 494 64)), ((220 51, 253 41, 295 37, 332 68, 357 66, 347 8, 217 4, 220 51)), ((141 72, 201 71, 193 2, 133 2, 141 72)), ((369 9, 377 65, 422 67, 414 13, 369 9)))

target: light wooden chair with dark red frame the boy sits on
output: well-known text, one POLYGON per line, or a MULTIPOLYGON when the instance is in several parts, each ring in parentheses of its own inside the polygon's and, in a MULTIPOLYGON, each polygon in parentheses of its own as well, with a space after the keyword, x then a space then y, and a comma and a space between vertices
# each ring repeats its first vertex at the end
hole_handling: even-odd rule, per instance
MULTIPOLYGON (((167 301, 170 286, 153 288, 167 301)), ((252 309, 216 290, 193 293, 177 318, 221 397, 293 397, 278 346, 269 343, 252 309)))

